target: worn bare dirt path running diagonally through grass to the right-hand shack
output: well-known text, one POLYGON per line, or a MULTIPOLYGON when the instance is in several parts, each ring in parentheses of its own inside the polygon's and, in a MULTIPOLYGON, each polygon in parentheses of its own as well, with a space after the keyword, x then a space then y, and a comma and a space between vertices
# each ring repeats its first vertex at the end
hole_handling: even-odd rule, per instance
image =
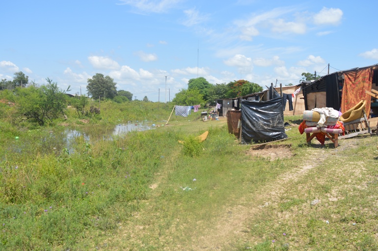
MULTIPOLYGON (((310 148, 304 158, 306 163, 298 163, 299 168, 278 176, 274 182, 261 187, 253 198, 243 198, 235 207, 224 208, 222 216, 216 220, 214 227, 210 227, 212 230, 208 231, 208 234, 192 239, 191 250, 232 250, 232 247, 228 247, 230 240, 247 240, 250 227, 246 223, 251 222, 265 207, 277 205, 286 187, 300 180, 312 169, 321 166, 327 157, 335 157, 335 151, 354 147, 355 139, 348 139, 337 149, 330 151, 320 146, 310 148)), ((269 152, 271 154, 271 150, 269 152)))

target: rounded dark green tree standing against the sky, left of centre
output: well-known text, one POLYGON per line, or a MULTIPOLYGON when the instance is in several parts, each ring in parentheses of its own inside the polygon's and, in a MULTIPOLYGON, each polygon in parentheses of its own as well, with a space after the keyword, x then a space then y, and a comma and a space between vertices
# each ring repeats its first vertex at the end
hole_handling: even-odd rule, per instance
POLYGON ((117 83, 109 76, 96 73, 92 78, 88 78, 87 81, 86 90, 93 99, 98 99, 99 97, 112 99, 117 94, 117 87, 115 87, 117 83))

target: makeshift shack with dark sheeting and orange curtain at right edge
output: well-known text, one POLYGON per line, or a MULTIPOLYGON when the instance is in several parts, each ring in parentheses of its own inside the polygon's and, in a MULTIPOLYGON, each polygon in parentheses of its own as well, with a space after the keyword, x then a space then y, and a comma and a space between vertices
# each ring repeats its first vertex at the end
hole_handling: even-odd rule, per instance
POLYGON ((366 93, 378 90, 378 64, 338 71, 300 85, 306 110, 332 107, 344 113, 365 100, 369 122, 378 121, 378 100, 366 93))

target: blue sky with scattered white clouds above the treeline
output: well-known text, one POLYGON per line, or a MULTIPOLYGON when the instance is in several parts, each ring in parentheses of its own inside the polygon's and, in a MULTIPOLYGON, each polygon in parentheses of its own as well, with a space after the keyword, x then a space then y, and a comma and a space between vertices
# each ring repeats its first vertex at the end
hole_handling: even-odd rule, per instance
POLYGON ((4 0, 0 78, 22 71, 85 94, 102 73, 139 100, 158 101, 160 88, 163 102, 197 76, 296 84, 328 63, 330 73, 377 64, 377 9, 376 0, 4 0))

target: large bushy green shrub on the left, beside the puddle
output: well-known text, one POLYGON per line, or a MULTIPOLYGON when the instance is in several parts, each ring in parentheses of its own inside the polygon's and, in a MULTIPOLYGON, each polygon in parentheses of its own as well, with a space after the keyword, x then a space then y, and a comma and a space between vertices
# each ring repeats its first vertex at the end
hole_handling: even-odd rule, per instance
MULTIPOLYGON (((50 79, 47 80, 49 82, 50 79)), ((40 126, 63 116, 67 107, 64 91, 59 90, 57 84, 52 81, 39 88, 32 85, 16 88, 14 95, 18 119, 34 120, 40 126)))

